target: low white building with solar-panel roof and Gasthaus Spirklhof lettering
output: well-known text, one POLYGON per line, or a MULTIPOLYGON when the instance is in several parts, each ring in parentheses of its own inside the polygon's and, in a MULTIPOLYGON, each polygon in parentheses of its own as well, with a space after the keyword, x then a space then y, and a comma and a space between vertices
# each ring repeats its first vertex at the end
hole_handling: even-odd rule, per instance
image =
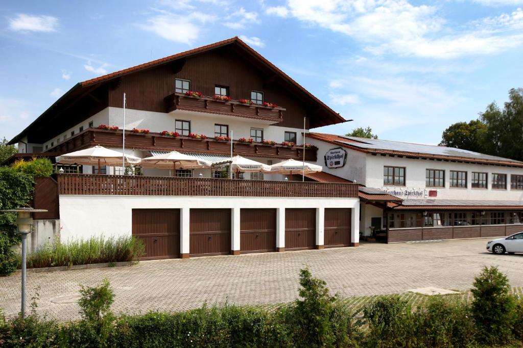
POLYGON ((318 148, 322 174, 357 182, 365 186, 360 191, 376 194, 374 199, 360 197, 364 236, 392 243, 523 230, 523 162, 441 146, 308 136, 318 148))

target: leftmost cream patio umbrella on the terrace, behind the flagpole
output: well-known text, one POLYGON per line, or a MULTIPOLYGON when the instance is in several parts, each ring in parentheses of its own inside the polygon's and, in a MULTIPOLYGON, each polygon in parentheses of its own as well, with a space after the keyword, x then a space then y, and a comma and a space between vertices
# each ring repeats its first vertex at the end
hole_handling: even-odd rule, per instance
MULTIPOLYGON (((125 161, 130 164, 138 164, 141 158, 124 154, 125 161)), ((92 148, 79 150, 75 152, 65 153, 56 157, 56 163, 63 164, 82 164, 82 165, 98 165, 98 173, 100 173, 101 165, 122 166, 122 153, 106 149, 102 146, 95 146, 92 148)))

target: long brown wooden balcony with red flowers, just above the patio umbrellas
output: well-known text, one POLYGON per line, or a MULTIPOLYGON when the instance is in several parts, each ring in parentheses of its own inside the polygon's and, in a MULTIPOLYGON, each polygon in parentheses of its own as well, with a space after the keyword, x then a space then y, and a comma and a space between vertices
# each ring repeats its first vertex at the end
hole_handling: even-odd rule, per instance
MULTIPOLYGON (((95 145, 113 148, 122 147, 122 130, 89 128, 42 154, 50 152, 63 154, 95 145)), ((160 133, 132 133, 128 130, 126 131, 126 147, 154 151, 183 151, 210 154, 231 153, 231 143, 229 141, 217 141, 214 138, 204 140, 192 139, 185 136, 173 138, 160 133)), ((305 149, 305 161, 315 162, 316 152, 316 148, 305 149)), ((303 148, 282 145, 271 146, 263 143, 244 143, 233 140, 233 155, 237 154, 244 157, 302 160, 303 148)))

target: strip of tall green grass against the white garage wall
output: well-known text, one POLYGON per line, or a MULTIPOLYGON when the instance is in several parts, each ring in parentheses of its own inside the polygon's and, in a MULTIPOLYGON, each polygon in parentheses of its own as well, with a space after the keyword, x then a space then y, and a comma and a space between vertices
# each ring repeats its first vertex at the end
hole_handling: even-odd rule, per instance
POLYGON ((91 237, 67 243, 55 242, 27 256, 27 268, 88 265, 89 263, 134 261, 144 255, 143 242, 136 237, 91 237))

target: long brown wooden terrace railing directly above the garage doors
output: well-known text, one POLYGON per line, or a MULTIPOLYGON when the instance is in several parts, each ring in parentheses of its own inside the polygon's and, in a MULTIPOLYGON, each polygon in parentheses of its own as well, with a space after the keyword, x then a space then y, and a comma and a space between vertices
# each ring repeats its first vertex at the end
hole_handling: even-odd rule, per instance
POLYGON ((59 195, 357 198, 358 184, 59 174, 59 195))

